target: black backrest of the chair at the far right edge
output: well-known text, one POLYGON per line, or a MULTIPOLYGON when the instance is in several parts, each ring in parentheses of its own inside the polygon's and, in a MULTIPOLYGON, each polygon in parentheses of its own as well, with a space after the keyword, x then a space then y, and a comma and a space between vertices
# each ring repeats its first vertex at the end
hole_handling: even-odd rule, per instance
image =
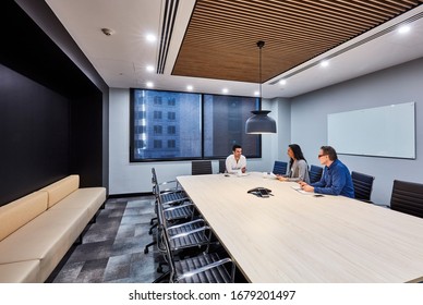
POLYGON ((423 184, 394 180, 390 209, 423 218, 423 184))

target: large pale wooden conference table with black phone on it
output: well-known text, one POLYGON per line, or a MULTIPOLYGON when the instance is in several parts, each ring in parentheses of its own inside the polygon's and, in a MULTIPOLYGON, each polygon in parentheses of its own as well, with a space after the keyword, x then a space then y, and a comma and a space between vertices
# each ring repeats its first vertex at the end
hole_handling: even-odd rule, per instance
POLYGON ((177 178, 250 282, 423 281, 423 219, 251 172, 177 178), (264 186, 273 196, 247 191, 264 186))

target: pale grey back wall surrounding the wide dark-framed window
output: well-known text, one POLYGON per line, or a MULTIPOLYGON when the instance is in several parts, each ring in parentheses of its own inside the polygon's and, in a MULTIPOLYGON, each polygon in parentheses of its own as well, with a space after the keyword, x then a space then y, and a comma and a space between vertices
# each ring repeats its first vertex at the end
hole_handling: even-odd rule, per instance
MULTIPOLYGON (((288 100, 264 100, 263 109, 271 110, 270 117, 278 122, 275 135, 262 136, 262 158, 249 159, 249 171, 271 171, 274 161, 286 151, 290 137, 290 113, 288 100)), ((191 174, 191 161, 130 162, 130 90, 110 89, 109 102, 109 194, 123 195, 152 192, 152 167, 156 168, 159 181, 174 180, 178 175, 191 174)), ((228 155, 231 151, 228 151, 228 155)), ((283 156, 286 159, 286 154, 283 156)), ((218 172, 218 161, 213 161, 214 172, 218 172)))

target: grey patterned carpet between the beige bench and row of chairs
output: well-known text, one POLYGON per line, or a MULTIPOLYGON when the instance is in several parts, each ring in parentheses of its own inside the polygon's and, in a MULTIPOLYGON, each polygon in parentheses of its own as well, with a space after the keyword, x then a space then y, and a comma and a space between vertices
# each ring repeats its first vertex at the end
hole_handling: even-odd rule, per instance
POLYGON ((90 224, 81 244, 73 246, 47 282, 52 283, 148 283, 156 272, 155 246, 148 234, 154 198, 111 198, 90 224))

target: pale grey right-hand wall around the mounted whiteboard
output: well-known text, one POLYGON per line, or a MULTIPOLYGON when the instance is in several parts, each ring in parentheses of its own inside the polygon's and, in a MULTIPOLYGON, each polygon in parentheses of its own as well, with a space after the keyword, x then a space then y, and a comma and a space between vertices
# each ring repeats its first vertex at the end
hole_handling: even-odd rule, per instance
POLYGON ((319 164, 317 152, 322 145, 327 144, 328 113, 414 101, 416 112, 415 160, 338 156, 350 171, 374 175, 372 199, 377 204, 389 204, 395 179, 423 183, 423 171, 421 170, 423 168, 422 85, 423 59, 418 59, 295 97, 291 100, 291 139, 301 145, 309 164, 319 164))

